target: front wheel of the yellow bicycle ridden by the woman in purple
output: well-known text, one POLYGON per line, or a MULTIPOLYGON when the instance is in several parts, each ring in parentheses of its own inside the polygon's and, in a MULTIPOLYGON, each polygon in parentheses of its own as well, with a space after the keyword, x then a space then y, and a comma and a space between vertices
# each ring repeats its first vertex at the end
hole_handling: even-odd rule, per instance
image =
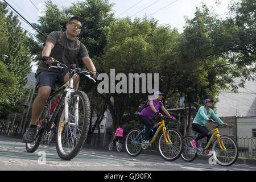
POLYGON ((164 134, 159 138, 158 148, 160 156, 164 160, 173 161, 179 158, 183 151, 183 137, 176 129, 168 129, 166 131, 166 138, 171 140, 171 143, 166 143, 164 134))

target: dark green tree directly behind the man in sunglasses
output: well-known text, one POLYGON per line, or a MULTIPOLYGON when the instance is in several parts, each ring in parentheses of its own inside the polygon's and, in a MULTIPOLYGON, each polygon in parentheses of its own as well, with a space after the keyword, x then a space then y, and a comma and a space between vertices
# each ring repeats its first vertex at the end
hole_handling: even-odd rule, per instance
MULTIPOLYGON (((97 71, 101 71, 100 65, 101 60, 98 59, 103 53, 104 47, 106 45, 106 35, 109 31, 109 24, 114 20, 113 13, 111 13, 112 4, 106 1, 81 1, 73 3, 70 7, 63 7, 61 10, 55 5, 51 0, 46 2, 46 15, 40 16, 38 24, 34 26, 42 32, 43 35, 48 36, 52 31, 65 31, 66 24, 72 16, 79 16, 82 19, 82 30, 79 35, 79 40, 85 44, 89 56, 92 58, 94 64, 96 65, 97 71), (54 17, 54 18, 53 18, 54 17)), ((37 35, 39 40, 34 46, 34 53, 38 56, 37 61, 41 60, 42 46, 46 41, 46 38, 41 34, 37 35)), ((80 60, 80 67, 82 67, 80 60)), ((84 67, 85 68, 85 67, 84 67)), ((86 69, 86 68, 85 68, 86 69)), ((100 123, 101 115, 104 113, 104 104, 99 104, 102 102, 102 98, 97 93, 97 85, 92 84, 91 81, 86 80, 85 77, 81 76, 80 88, 88 93, 91 101, 92 114, 96 113, 98 115, 98 120, 100 123)), ((104 102, 104 101, 103 101, 104 102)), ((90 126, 90 133, 93 132, 95 128, 90 126)))

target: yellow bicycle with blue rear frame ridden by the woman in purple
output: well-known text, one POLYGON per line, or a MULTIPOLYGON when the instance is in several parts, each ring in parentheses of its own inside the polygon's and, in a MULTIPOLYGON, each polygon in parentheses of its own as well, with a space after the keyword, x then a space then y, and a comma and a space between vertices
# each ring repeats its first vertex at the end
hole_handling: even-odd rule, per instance
MULTIPOLYGON (((154 137, 152 137, 150 145, 154 143, 159 132, 162 131, 162 135, 160 136, 158 142, 160 156, 162 156, 164 160, 173 161, 179 158, 181 152, 183 151, 183 137, 176 129, 167 129, 165 126, 164 118, 168 117, 163 116, 159 123, 156 123, 156 125, 152 126, 151 130, 155 127, 158 127, 158 129, 156 130, 154 137)), ((145 150, 148 147, 148 145, 144 145, 142 143, 145 128, 146 127, 144 126, 143 130, 130 130, 126 135, 125 148, 128 155, 133 157, 138 156, 141 154, 142 150, 145 150)))

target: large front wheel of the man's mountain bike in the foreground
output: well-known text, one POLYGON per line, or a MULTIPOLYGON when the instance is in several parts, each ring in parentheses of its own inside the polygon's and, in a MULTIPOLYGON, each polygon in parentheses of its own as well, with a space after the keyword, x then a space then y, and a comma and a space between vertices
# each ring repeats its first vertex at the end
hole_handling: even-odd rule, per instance
POLYGON ((90 123, 90 104, 82 91, 71 93, 68 102, 68 121, 65 121, 65 106, 57 119, 56 149, 61 159, 71 160, 84 144, 90 123))

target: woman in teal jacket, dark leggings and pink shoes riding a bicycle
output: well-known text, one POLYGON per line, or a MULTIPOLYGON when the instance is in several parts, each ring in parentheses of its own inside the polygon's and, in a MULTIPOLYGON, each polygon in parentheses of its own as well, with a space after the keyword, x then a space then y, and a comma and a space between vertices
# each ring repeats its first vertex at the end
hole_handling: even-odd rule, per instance
MULTIPOLYGON (((217 117, 217 115, 214 114, 213 110, 210 109, 212 107, 213 100, 210 100, 209 98, 204 100, 204 106, 201 106, 199 110, 197 111, 196 117, 193 120, 192 123, 192 129, 195 130, 199 135, 193 140, 191 140, 191 144, 194 148, 197 148, 197 141, 207 137, 207 143, 210 140, 210 137, 212 137, 212 134, 209 133, 209 129, 205 126, 206 123, 209 121, 217 122, 219 125, 226 125, 228 124, 221 121, 220 118, 217 117)), ((212 151, 209 149, 205 151, 207 155, 212 155, 212 151)))

